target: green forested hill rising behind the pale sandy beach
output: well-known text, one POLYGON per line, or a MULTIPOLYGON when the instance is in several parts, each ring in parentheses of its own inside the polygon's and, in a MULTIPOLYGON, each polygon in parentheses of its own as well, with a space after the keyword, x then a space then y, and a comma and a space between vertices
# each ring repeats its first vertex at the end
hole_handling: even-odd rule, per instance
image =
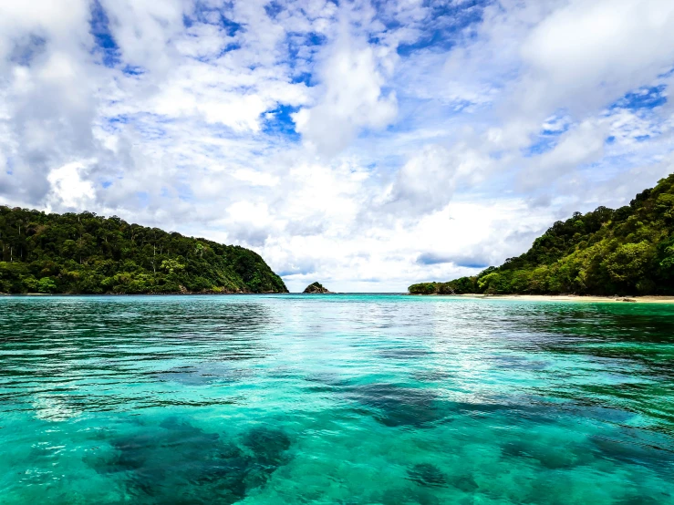
POLYGON ((410 294, 674 294, 674 174, 616 211, 555 224, 531 249, 474 277, 410 294))

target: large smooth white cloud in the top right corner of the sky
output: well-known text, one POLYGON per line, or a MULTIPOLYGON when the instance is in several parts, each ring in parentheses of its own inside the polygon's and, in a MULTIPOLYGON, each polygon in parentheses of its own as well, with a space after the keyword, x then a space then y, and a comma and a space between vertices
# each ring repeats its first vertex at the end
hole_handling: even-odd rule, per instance
POLYGON ((669 0, 570 2, 524 42, 529 100, 573 98, 569 108, 606 105, 671 67, 673 26, 669 0))

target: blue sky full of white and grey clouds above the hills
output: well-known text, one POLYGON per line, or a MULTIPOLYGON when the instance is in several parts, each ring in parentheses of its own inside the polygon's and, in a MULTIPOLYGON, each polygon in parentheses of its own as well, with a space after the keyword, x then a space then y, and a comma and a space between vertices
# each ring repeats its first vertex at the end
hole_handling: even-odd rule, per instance
POLYGON ((0 0, 0 204, 404 292, 674 172, 671 0, 0 0))

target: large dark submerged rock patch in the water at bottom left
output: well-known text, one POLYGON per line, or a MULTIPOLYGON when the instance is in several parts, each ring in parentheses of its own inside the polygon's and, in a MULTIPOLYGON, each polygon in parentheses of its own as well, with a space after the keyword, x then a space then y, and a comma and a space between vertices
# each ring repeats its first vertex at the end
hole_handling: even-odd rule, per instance
POLYGON ((110 445, 111 454, 89 464, 123 479, 135 503, 228 505, 264 486, 287 462, 291 441, 275 428, 252 428, 226 439, 169 418, 113 438, 110 445))

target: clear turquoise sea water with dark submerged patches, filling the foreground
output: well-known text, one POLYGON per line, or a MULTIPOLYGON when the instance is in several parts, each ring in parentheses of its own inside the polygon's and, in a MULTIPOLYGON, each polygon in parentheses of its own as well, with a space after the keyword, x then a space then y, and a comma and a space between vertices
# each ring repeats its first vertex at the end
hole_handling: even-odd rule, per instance
POLYGON ((674 503, 674 305, 0 298, 0 503, 674 503))

